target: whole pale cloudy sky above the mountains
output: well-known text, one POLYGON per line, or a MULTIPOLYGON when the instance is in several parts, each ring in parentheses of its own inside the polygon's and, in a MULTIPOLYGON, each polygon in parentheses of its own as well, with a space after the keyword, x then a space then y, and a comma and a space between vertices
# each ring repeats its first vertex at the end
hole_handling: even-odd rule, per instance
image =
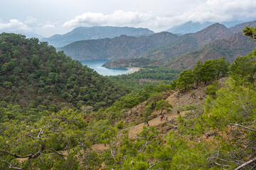
POLYGON ((78 26, 129 26, 161 32, 188 21, 255 21, 256 0, 0 0, 0 33, 44 37, 78 26))

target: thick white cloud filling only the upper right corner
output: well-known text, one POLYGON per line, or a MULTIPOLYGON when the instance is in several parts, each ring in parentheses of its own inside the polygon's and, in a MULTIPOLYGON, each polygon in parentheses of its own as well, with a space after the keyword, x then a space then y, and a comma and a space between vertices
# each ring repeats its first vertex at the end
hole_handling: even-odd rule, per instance
POLYGON ((177 18, 195 22, 245 21, 255 19, 256 1, 208 0, 177 18))

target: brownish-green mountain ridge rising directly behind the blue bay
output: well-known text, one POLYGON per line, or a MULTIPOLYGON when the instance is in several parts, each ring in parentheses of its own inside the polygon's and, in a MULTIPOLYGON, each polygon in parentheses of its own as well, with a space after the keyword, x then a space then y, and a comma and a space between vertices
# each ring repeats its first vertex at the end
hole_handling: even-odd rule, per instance
POLYGON ((112 39, 77 41, 58 50, 63 50, 75 60, 132 58, 150 48, 173 42, 177 38, 178 35, 167 32, 141 37, 121 35, 112 39))

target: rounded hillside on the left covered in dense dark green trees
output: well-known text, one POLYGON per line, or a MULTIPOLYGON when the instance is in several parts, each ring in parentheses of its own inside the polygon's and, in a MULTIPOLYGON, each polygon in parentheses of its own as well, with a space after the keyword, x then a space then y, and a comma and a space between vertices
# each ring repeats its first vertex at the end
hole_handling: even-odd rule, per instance
POLYGON ((63 107, 106 107, 128 92, 47 42, 13 33, 0 35, 0 88, 0 122, 63 107))

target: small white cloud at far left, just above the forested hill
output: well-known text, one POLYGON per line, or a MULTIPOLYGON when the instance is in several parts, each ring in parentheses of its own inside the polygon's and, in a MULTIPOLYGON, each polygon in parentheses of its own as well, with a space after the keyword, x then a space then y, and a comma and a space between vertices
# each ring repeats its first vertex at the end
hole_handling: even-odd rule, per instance
POLYGON ((18 21, 16 19, 11 19, 9 23, 0 23, 0 30, 24 30, 28 31, 31 30, 25 23, 18 21))

